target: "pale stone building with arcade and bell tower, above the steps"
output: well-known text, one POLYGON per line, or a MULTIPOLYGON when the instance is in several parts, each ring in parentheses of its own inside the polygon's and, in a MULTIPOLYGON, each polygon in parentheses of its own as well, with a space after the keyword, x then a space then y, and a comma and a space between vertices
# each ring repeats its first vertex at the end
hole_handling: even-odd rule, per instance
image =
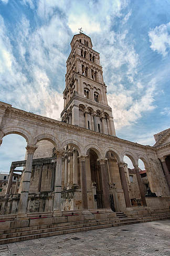
POLYGON ((92 49, 90 37, 80 33, 71 41, 61 122, 0 102, 0 144, 12 133, 27 141, 25 160, 12 163, 6 195, 0 198, 1 214, 61 216, 99 209, 130 214, 134 198, 147 211, 169 210, 170 129, 155 135, 153 147, 120 139, 106 93, 99 53, 92 49), (127 169, 125 155, 133 170, 127 169), (145 197, 139 159, 157 196, 154 202, 145 197), (19 166, 19 190, 10 193, 19 166))

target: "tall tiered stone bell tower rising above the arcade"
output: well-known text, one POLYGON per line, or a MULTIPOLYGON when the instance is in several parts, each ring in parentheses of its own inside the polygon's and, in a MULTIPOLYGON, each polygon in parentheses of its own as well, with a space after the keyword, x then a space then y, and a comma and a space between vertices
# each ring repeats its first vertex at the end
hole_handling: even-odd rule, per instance
POLYGON ((89 36, 83 33, 73 36, 71 53, 66 63, 62 122, 115 136, 100 56, 92 49, 89 36))

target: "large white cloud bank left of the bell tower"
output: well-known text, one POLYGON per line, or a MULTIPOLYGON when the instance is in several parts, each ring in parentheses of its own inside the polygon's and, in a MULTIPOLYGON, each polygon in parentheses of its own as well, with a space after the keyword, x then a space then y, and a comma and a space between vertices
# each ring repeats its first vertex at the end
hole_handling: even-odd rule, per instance
POLYGON ((55 50, 55 46, 52 46, 54 40, 49 39, 48 29, 45 32, 42 27, 42 31, 39 33, 31 34, 29 22, 26 18, 22 19, 18 28, 20 31, 18 34, 18 53, 22 60, 19 64, 13 55, 13 47, 6 35, 2 17, 0 17, 0 25, 0 84, 3 85, 1 100, 13 103, 15 107, 20 109, 60 119, 60 113, 63 109, 62 94, 51 86, 50 77, 47 75, 45 67, 50 65, 50 67, 56 68, 56 65, 63 62, 63 55, 59 50, 55 50), (42 47, 42 43, 45 48, 42 47), (47 63, 44 51, 47 51, 48 47, 51 48, 49 63, 47 63), (31 65, 29 66, 25 61, 26 53, 30 56, 31 65), (31 82, 28 80, 27 73, 22 71, 23 67, 27 68, 28 74, 31 75, 31 82))

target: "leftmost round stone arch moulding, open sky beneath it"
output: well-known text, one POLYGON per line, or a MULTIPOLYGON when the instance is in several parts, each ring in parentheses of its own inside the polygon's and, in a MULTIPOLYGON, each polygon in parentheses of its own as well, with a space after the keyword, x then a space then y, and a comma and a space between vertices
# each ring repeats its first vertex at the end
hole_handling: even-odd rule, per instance
POLYGON ((26 140, 26 142, 28 144, 34 144, 33 141, 33 136, 25 129, 21 128, 21 127, 18 127, 18 126, 8 126, 8 127, 5 127, 4 129, 1 130, 2 133, 3 133, 3 137, 5 137, 6 135, 9 135, 9 134, 18 134, 22 137, 24 137, 24 139, 26 140))

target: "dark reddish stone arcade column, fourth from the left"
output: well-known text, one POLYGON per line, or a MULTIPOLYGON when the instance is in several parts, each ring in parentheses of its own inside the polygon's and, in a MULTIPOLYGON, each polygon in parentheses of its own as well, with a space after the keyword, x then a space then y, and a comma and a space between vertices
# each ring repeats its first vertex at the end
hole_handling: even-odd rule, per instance
POLYGON ((104 208, 110 208, 109 202, 109 182, 108 182, 108 175, 105 169, 105 160, 101 159, 100 168, 101 168, 101 178, 102 178, 102 188, 103 188, 103 203, 104 208))

